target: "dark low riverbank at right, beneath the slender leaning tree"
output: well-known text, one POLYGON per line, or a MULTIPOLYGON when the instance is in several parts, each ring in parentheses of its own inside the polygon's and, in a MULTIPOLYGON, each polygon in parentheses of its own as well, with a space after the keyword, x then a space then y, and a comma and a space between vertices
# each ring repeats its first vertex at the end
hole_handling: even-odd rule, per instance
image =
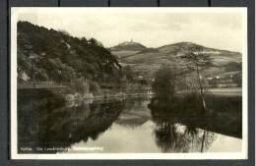
POLYGON ((185 125, 192 121, 197 128, 234 138, 242 137, 242 98, 240 96, 205 96, 208 110, 204 112, 198 95, 185 95, 161 102, 153 98, 148 107, 153 117, 172 117, 185 125), (196 122, 193 122, 195 119, 196 122))

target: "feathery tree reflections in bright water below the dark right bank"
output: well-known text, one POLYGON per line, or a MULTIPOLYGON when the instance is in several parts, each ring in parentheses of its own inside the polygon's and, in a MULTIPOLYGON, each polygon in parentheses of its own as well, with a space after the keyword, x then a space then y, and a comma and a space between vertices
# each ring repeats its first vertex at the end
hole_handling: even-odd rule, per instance
POLYGON ((215 139, 214 133, 205 133, 191 125, 183 126, 173 119, 155 122, 156 142, 162 152, 200 152, 201 148, 208 149, 215 139))

